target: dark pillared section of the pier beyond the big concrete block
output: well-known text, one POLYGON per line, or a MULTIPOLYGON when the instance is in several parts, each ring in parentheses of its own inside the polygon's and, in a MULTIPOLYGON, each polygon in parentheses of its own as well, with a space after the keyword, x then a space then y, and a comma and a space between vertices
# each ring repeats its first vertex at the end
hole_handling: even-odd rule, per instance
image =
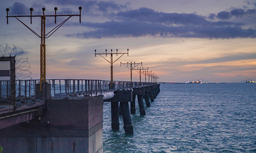
POLYGON ((133 134, 133 125, 131 121, 131 114, 135 114, 135 99, 138 97, 140 115, 146 115, 143 103, 143 96, 145 97, 146 106, 150 106, 148 95, 151 95, 151 101, 160 92, 160 85, 151 85, 145 87, 136 87, 133 90, 117 90, 113 98, 105 99, 104 101, 111 101, 111 127, 113 131, 119 131, 119 115, 123 117, 123 128, 125 134, 133 134), (131 113, 129 111, 128 101, 131 101, 131 113), (119 107, 118 107, 119 102, 119 107))

